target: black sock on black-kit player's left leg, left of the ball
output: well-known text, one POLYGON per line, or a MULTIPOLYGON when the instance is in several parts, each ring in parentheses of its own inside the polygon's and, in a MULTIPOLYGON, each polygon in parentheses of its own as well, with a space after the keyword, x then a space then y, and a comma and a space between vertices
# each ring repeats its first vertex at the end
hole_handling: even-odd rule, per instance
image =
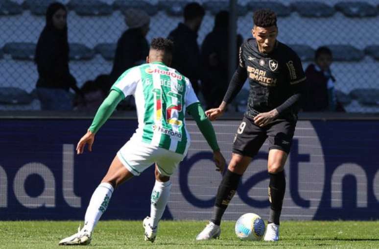
POLYGON ((224 178, 222 178, 220 186, 218 186, 216 200, 214 203, 213 219, 211 220, 214 224, 221 224, 222 215, 236 193, 241 176, 241 174, 236 174, 227 170, 224 178))

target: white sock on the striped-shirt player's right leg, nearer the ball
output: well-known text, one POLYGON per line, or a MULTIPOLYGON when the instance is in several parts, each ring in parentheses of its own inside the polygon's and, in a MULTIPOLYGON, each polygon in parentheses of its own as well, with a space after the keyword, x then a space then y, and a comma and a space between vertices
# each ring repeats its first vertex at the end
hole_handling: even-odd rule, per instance
POLYGON ((171 182, 155 181, 153 191, 151 193, 150 218, 151 226, 157 226, 165 211, 168 197, 170 196, 171 182))

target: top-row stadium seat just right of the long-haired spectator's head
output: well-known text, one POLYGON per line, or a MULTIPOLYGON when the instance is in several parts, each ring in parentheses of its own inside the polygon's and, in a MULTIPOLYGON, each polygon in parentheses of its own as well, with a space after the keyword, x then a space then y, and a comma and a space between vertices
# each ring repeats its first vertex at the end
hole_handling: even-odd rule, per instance
POLYGON ((108 16, 113 12, 111 5, 99 0, 71 0, 67 6, 79 16, 108 16))

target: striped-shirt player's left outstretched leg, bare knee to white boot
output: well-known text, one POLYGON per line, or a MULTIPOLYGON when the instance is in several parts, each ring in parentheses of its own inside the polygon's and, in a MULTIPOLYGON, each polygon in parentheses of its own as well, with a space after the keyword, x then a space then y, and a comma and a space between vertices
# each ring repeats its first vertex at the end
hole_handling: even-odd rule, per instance
POLYGON ((61 240, 59 245, 89 245, 91 243, 91 235, 94 231, 95 225, 108 207, 109 200, 111 199, 114 191, 113 186, 118 186, 132 176, 133 175, 121 164, 118 158, 115 157, 109 167, 108 173, 95 189, 95 192, 91 197, 90 204, 87 207, 84 218, 83 228, 80 229, 79 226, 77 233, 61 240))

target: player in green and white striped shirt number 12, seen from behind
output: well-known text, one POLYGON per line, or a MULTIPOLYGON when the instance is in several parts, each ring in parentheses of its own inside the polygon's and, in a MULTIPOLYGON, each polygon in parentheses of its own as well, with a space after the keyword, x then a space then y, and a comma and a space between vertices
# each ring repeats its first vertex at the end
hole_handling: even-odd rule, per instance
MULTIPOLYGON (((217 171, 223 171, 225 159, 217 145, 213 126, 206 117, 187 77, 169 68, 172 41, 155 38, 151 42, 146 64, 123 73, 112 86, 109 96, 99 107, 87 133, 80 139, 76 151, 84 147, 92 151, 95 134, 128 95, 134 95, 138 128, 118 151, 108 173, 96 188, 78 233, 65 238, 59 245, 88 245, 92 232, 106 210, 114 189, 133 176, 140 175, 155 164, 155 185, 151 195, 150 216, 143 220, 144 239, 154 242, 158 223, 169 197, 170 175, 187 154, 190 135, 186 129, 185 113, 190 113, 213 150, 217 171)), ((183 58, 185 59, 185 58, 183 58)))

